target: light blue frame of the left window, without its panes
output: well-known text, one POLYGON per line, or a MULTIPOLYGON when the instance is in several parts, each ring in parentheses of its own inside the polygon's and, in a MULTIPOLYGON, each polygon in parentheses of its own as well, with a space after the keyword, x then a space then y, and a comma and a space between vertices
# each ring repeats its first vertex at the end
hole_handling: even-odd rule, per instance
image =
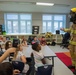
POLYGON ((9 35, 9 34, 11 34, 11 35, 12 35, 12 34, 13 34, 13 35, 14 35, 14 34, 26 34, 26 35, 32 34, 32 14, 27 14, 27 13, 4 13, 4 21, 5 21, 5 30, 6 30, 6 34, 7 34, 7 35, 9 35), (15 19, 11 19, 11 20, 10 20, 10 19, 7 19, 7 15, 9 15, 9 14, 17 14, 17 15, 18 15, 18 19, 16 19, 16 20, 15 20, 15 19), (24 14, 24 15, 26 15, 26 16, 29 15, 29 16, 30 16, 30 19, 29 19, 29 20, 21 19, 21 18, 20 18, 20 15, 22 15, 22 14, 24 14), (7 24, 8 24, 8 23, 7 23, 8 21, 11 21, 11 23, 12 23, 12 24, 11 24, 11 25, 12 25, 12 26, 11 26, 11 27, 12 27, 12 32, 11 32, 11 33, 9 33, 9 30, 8 30, 8 25, 7 25, 7 24), (13 32, 13 22, 14 22, 14 21, 18 21, 18 33, 14 33, 14 32, 13 32), (25 24, 25 25, 26 25, 26 27, 25 27, 25 30, 26 30, 26 31, 25 31, 25 32, 21 32, 21 24, 20 24, 20 21, 25 21, 25 23, 26 23, 26 24, 25 24), (28 22, 28 21, 30 22, 30 25, 31 25, 31 26, 30 26, 30 32, 27 32, 27 29, 28 29, 28 28, 27 28, 27 22, 28 22))

